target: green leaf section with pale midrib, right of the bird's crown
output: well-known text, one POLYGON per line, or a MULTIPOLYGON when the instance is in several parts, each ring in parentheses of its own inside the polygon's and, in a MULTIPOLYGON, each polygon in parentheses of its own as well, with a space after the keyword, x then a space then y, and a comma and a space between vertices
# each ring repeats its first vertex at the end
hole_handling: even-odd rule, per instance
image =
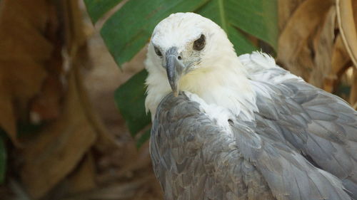
POLYGON ((196 10, 226 31, 238 54, 257 49, 241 31, 256 36, 276 49, 278 38, 276 0, 211 0, 196 10))

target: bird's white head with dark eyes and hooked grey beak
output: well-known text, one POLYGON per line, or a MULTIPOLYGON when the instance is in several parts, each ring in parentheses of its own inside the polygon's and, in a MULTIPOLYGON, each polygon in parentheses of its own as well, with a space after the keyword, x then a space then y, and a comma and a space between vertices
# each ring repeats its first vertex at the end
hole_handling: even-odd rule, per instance
POLYGON ((166 73, 175 95, 183 77, 216 68, 222 56, 236 58, 226 33, 210 19, 193 13, 171 14, 161 21, 148 50, 151 67, 166 73))

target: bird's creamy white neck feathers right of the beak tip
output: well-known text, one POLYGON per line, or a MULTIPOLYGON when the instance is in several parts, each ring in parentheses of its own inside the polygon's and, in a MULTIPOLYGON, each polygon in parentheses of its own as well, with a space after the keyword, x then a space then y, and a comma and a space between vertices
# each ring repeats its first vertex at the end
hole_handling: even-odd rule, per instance
POLYGON ((225 107, 243 120, 253 120, 253 112, 257 110, 256 95, 238 57, 208 61, 211 66, 181 78, 180 90, 195 93, 208 104, 225 107))

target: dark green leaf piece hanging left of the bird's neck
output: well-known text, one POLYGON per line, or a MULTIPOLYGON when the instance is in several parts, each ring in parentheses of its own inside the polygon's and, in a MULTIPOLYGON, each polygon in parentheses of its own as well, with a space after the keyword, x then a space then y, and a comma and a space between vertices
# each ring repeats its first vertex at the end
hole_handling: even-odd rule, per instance
POLYGON ((134 75, 130 80, 119 87, 114 99, 116 106, 126 120, 131 135, 136 135, 146 125, 149 125, 151 117, 145 112, 145 88, 144 81, 147 76, 146 70, 134 75))

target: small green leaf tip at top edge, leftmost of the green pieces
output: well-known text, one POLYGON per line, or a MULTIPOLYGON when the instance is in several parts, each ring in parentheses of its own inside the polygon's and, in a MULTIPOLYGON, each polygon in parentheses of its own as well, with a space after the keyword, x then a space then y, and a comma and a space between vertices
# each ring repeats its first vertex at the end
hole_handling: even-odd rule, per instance
POLYGON ((96 23, 101 16, 106 14, 123 0, 84 0, 91 21, 96 23))

